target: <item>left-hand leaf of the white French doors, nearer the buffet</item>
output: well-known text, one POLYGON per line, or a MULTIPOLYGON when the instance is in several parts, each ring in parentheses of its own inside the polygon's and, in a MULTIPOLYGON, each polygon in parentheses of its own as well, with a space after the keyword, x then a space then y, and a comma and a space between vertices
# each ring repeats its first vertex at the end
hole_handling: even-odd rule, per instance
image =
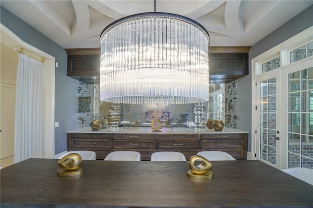
POLYGON ((280 167, 280 70, 257 77, 256 158, 271 166, 280 167))

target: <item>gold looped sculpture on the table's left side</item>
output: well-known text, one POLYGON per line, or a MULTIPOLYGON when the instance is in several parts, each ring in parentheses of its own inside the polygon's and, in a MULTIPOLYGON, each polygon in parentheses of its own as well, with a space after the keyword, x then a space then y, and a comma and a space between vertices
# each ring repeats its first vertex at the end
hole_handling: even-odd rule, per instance
POLYGON ((58 176, 76 176, 83 172, 83 168, 79 167, 82 164, 82 157, 77 153, 70 153, 58 161, 61 167, 57 170, 58 176))

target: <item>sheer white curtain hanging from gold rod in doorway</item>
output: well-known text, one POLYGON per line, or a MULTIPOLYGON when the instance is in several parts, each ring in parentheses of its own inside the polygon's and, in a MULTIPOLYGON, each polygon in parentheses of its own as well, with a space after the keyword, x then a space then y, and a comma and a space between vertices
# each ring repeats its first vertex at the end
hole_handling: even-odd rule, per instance
POLYGON ((14 163, 44 157, 44 63, 19 53, 14 163))

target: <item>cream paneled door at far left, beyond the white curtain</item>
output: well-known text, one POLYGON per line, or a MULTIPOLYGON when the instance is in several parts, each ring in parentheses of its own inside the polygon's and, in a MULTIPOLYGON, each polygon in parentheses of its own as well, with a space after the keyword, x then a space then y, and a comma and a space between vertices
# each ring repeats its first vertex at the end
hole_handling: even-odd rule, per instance
POLYGON ((0 83, 0 159, 14 155, 16 85, 0 83))

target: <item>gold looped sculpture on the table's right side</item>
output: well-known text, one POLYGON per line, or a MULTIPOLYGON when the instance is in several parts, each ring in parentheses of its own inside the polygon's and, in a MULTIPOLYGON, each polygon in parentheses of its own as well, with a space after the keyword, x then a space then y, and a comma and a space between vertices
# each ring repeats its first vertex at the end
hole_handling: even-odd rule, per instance
POLYGON ((189 159, 188 165, 190 167, 190 170, 187 172, 188 178, 195 180, 210 180, 213 178, 213 172, 210 171, 213 164, 205 157, 194 155, 189 159), (200 164, 195 166, 197 161, 200 161, 200 164))

